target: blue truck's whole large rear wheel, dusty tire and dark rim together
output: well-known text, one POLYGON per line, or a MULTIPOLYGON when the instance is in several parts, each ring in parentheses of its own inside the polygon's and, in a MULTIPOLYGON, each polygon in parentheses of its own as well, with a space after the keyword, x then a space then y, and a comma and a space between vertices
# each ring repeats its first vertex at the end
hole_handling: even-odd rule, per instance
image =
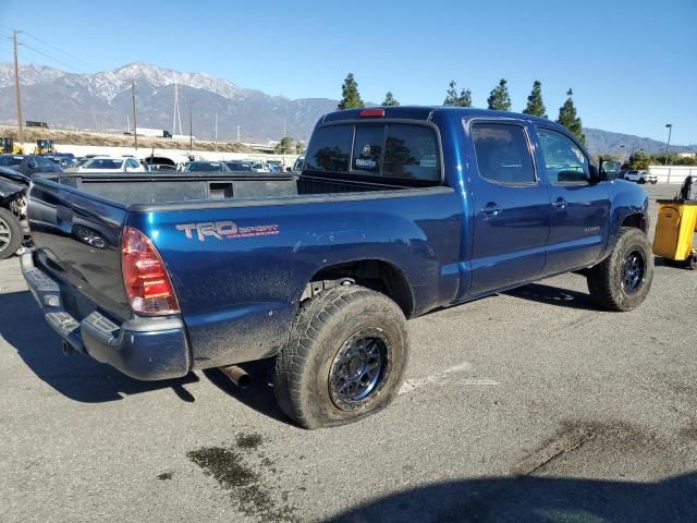
POLYGON ((277 356, 273 391, 305 428, 344 425, 396 397, 408 356, 406 319, 389 297, 358 285, 305 302, 277 356))

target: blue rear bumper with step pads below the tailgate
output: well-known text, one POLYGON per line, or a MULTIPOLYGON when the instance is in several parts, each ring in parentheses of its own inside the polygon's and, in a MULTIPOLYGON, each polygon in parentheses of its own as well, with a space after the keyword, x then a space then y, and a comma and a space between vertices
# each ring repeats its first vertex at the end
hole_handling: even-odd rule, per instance
POLYGON ((191 352, 179 317, 137 317, 117 325, 94 311, 77 320, 63 308, 59 283, 34 266, 32 253, 22 255, 22 273, 48 324, 77 352, 89 354, 136 379, 185 376, 191 352))

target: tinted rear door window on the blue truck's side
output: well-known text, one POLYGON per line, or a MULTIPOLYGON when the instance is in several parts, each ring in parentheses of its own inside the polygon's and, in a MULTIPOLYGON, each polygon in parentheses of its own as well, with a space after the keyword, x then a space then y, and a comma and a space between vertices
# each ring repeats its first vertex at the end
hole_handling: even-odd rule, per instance
POLYGON ((536 182, 533 157, 522 126, 475 123, 472 125, 472 137, 481 178, 506 185, 536 182))

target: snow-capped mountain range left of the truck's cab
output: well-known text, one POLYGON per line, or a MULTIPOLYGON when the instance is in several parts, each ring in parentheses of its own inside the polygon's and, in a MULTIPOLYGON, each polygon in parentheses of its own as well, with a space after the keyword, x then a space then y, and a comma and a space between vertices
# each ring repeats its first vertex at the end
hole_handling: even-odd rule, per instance
MULTIPOLYGON (((21 65, 22 99, 26 120, 47 122, 51 127, 121 131, 131 112, 131 83, 136 85, 138 125, 173 130, 174 90, 179 86, 182 130, 188 132, 192 106, 194 135, 213 135, 216 107, 220 139, 279 139, 286 134, 306 139, 317 119, 337 107, 325 98, 290 100, 260 90, 242 88, 206 73, 187 73, 135 62, 112 71, 75 74, 58 69, 21 65)), ((0 122, 16 118, 14 69, 0 63, 0 122)))

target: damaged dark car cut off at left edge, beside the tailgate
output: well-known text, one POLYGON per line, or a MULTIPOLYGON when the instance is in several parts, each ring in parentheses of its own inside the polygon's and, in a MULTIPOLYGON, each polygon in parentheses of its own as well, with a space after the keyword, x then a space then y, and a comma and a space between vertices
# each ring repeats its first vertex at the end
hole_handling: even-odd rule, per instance
POLYGON ((29 177, 0 167, 0 259, 16 253, 29 236, 26 193, 30 182, 29 177))

